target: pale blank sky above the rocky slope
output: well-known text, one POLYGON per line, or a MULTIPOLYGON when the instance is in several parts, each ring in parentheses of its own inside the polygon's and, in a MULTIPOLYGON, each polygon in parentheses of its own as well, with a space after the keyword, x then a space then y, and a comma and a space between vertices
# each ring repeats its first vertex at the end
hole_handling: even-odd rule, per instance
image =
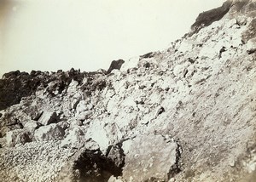
POLYGON ((168 48, 224 0, 1 0, 0 77, 7 71, 108 69, 168 48))

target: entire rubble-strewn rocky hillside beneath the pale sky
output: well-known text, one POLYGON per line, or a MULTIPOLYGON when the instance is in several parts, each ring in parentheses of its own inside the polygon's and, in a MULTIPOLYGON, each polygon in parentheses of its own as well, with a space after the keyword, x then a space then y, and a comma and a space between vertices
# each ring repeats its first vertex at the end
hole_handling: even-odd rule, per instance
POLYGON ((109 71, 5 74, 1 181, 255 181, 255 7, 109 71))

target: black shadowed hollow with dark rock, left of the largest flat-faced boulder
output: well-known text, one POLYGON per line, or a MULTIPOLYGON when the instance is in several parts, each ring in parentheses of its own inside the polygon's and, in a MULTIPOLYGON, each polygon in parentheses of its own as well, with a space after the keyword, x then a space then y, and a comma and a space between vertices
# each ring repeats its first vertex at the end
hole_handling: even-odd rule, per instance
POLYGON ((113 175, 122 175, 125 165, 125 156, 119 145, 108 147, 108 156, 102 151, 85 150, 74 162, 74 181, 81 182, 107 182, 113 175))

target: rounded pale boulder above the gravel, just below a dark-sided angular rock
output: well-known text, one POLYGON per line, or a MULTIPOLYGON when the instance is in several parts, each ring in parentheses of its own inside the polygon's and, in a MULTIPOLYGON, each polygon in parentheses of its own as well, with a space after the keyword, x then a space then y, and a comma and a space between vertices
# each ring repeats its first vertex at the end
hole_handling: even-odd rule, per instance
POLYGON ((38 128, 35 131, 36 141, 47 141, 51 139, 62 139, 65 131, 55 123, 38 128))

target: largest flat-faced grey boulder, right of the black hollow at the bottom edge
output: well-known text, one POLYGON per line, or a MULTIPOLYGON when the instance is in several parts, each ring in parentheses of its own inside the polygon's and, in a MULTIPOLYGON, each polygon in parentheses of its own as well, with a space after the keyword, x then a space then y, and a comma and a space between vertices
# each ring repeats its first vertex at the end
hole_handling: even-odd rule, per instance
POLYGON ((128 181, 168 181, 172 177, 172 168, 177 169, 178 145, 174 141, 167 143, 161 135, 139 135, 135 139, 126 140, 123 145, 123 177, 128 181))

